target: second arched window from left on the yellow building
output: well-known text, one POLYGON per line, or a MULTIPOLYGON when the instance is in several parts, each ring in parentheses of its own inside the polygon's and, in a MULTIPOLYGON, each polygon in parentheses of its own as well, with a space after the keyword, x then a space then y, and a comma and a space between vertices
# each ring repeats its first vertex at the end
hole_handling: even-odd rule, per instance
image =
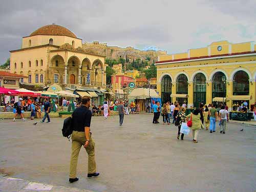
MULTIPOLYGON (((177 77, 177 86, 176 86, 176 94, 186 94, 187 95, 187 76, 184 74, 180 74, 177 77)), ((176 100, 179 103, 185 102, 187 104, 187 98, 185 97, 176 97, 176 100)))

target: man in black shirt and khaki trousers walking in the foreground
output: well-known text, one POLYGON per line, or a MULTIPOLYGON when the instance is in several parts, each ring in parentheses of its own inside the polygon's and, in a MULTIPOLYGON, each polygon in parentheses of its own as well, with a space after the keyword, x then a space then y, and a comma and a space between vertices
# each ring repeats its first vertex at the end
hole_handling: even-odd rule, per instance
POLYGON ((70 160, 70 175, 69 182, 78 181, 76 177, 76 166, 78 161, 81 146, 86 148, 88 154, 88 175, 87 177, 97 177, 99 173, 96 172, 95 163, 95 142, 93 141, 90 132, 92 112, 89 110, 91 100, 88 96, 82 97, 81 105, 75 109, 72 114, 72 155, 70 160))

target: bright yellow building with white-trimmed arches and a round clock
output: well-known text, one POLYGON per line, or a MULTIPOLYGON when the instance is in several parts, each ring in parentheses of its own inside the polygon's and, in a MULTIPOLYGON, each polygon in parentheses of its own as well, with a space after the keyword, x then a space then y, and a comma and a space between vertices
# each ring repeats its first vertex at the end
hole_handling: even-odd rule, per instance
POLYGON ((232 44, 212 42, 187 53, 159 56, 157 91, 162 101, 199 102, 226 100, 232 103, 256 101, 256 45, 254 41, 232 44))

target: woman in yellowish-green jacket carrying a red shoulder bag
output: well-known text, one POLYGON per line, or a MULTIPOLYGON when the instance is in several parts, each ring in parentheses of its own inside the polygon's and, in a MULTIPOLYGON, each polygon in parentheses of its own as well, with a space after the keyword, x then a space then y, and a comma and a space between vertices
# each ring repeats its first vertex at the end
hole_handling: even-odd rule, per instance
POLYGON ((188 123, 188 126, 193 131, 193 142, 198 143, 197 136, 198 136, 199 130, 203 128, 199 109, 195 109, 193 113, 190 113, 189 115, 187 115, 187 121, 188 122, 190 121, 188 123))

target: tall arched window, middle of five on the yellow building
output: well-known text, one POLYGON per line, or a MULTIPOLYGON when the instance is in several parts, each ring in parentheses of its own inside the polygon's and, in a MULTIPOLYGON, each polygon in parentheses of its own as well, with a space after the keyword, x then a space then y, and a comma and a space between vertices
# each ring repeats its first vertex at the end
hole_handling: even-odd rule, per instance
POLYGON ((194 107, 199 103, 206 103, 206 78, 202 73, 194 77, 194 107))

